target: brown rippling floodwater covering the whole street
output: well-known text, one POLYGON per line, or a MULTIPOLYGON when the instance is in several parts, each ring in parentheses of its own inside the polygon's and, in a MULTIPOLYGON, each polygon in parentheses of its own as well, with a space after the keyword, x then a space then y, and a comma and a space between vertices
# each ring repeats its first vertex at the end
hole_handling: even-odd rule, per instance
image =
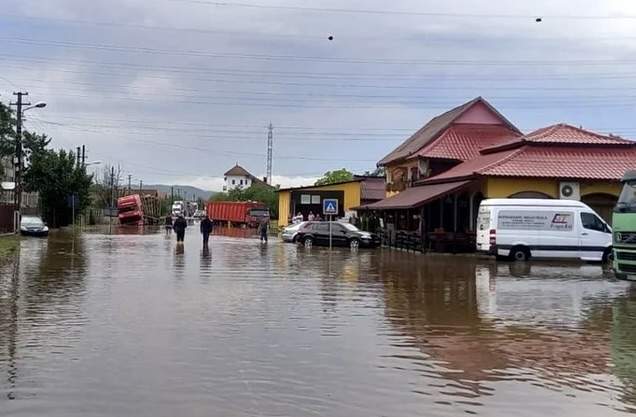
POLYGON ((636 412, 636 288, 598 265, 172 239, 22 241, 0 415, 636 412))

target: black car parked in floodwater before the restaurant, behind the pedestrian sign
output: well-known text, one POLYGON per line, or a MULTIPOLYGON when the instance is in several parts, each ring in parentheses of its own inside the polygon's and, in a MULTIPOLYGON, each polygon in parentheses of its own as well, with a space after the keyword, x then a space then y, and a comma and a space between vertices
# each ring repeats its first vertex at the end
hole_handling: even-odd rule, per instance
POLYGON ((380 238, 377 235, 363 232, 352 224, 340 222, 306 222, 298 231, 296 241, 305 246, 329 246, 329 224, 331 224, 333 246, 357 248, 380 245, 380 238))

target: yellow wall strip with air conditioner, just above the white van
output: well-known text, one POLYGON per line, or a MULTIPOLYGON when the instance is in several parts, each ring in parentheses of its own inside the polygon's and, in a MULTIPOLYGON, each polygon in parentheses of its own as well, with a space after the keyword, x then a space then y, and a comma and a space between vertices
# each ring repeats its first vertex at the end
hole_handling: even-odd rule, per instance
MULTIPOLYGON (((552 198, 559 198, 561 181, 560 179, 491 177, 484 183, 484 195, 486 198, 507 198, 523 191, 537 191, 552 198)), ((588 181, 580 182, 580 184, 581 196, 605 193, 618 197, 621 191, 620 184, 612 181, 588 181)))

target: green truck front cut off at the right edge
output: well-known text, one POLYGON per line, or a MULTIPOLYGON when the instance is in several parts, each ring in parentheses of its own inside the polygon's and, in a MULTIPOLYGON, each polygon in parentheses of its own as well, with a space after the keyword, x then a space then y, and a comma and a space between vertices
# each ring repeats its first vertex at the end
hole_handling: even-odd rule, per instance
POLYGON ((636 281, 636 171, 627 171, 614 208, 614 273, 617 278, 636 281))

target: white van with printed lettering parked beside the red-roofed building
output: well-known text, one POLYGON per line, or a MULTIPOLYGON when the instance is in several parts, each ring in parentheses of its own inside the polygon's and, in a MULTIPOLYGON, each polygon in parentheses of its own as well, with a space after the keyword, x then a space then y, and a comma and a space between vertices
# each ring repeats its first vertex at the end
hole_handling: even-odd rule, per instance
POLYGON ((612 252, 612 229, 594 210, 574 200, 484 200, 476 240, 478 252, 519 261, 531 257, 606 261, 612 252))

